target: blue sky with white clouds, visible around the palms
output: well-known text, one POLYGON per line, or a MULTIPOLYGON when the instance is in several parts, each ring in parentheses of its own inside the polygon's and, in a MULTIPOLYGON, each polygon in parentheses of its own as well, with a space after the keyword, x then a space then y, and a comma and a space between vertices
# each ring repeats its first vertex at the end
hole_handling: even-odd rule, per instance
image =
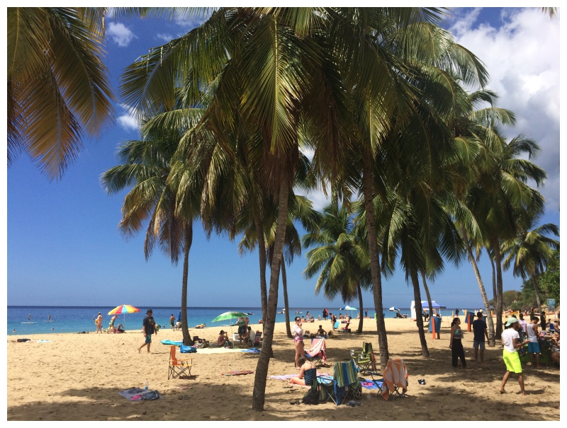
MULTIPOLYGON (((550 20, 537 8, 455 8, 444 25, 485 63, 488 87, 500 96, 498 106, 516 113, 517 124, 506 130, 507 137, 525 134, 541 146, 534 161, 549 175, 539 189, 547 201, 541 222, 554 224, 559 224, 559 23, 560 18, 550 20)), ((118 88, 125 66, 193 25, 196 22, 166 19, 107 23, 104 61, 113 88, 118 88)), ((47 180, 25 155, 8 168, 3 214, 8 305, 179 306, 182 260, 174 266, 156 250, 146 261, 144 233, 125 241, 117 229, 125 191, 109 196, 100 184, 101 173, 119 164, 117 146, 137 137, 128 106, 117 104, 116 125, 101 139, 84 141, 84 151, 58 182, 47 180)), ((321 194, 310 197, 318 209, 325 204, 321 194)), ((188 306, 260 306, 258 253, 240 257, 237 242, 215 235, 207 240, 196 224, 188 306)), ((290 306, 344 306, 340 299, 315 296, 316 278, 305 280, 302 274, 305 253, 287 268, 290 306)), ((492 270, 486 255, 479 267, 490 299, 492 270)), ((519 290, 522 284, 511 271, 503 280, 505 290, 519 290)), ((432 299, 449 308, 481 306, 468 263, 447 265, 429 286, 432 299)), ((422 296, 425 299, 423 291, 422 296)), ((374 306, 371 292, 363 299, 365 307, 374 306)), ((279 300, 280 308, 283 298, 279 300)), ((412 289, 399 269, 383 281, 385 308, 409 307, 412 300, 412 289)), ((358 301, 352 303, 358 306, 358 301)))

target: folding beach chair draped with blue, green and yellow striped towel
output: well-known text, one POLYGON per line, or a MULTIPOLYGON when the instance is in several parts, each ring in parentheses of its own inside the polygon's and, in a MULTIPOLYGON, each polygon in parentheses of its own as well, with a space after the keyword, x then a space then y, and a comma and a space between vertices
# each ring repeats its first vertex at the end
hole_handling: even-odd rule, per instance
POLYGON ((319 400, 326 401, 328 398, 336 405, 344 403, 345 400, 360 399, 362 387, 357 376, 357 364, 354 360, 349 362, 335 363, 333 375, 317 376, 319 400))

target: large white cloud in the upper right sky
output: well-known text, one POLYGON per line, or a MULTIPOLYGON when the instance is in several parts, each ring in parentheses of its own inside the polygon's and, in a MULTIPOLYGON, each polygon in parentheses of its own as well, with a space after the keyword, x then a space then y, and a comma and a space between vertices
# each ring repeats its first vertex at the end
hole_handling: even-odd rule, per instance
POLYGON ((488 87, 500 96, 498 106, 515 112, 516 126, 508 138, 524 134, 536 140, 535 158, 548 174, 540 189, 547 209, 559 207, 559 18, 549 19, 539 8, 504 9, 500 28, 481 24, 475 9, 459 16, 451 27, 456 41, 474 52, 490 73, 488 87))

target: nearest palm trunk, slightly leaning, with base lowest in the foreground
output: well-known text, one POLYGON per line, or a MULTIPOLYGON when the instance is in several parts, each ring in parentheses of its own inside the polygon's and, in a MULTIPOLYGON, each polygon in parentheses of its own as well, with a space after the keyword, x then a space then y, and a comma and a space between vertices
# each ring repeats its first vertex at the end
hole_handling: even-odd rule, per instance
POLYGON ((276 241, 274 243, 274 259, 271 262, 270 289, 266 305, 266 319, 264 320, 264 342, 256 366, 254 377, 254 391, 252 393, 252 408, 257 411, 264 410, 266 394, 266 377, 271 356, 271 343, 274 340, 274 325, 276 323, 276 305, 278 301, 279 265, 283 252, 283 240, 286 237, 286 224, 288 219, 288 178, 282 173, 279 189, 278 225, 276 227, 276 241))

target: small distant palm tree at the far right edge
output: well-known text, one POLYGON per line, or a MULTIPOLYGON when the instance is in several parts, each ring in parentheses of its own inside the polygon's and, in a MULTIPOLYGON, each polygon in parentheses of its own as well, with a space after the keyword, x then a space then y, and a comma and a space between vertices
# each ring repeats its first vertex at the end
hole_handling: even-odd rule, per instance
POLYGON ((504 270, 508 270, 513 262, 515 277, 532 279, 536 292, 537 307, 541 311, 536 275, 545 271, 546 266, 554 256, 554 250, 559 249, 559 241, 548 238, 544 234, 552 233, 555 236, 559 236, 559 228, 551 223, 537 226, 540 216, 540 213, 534 215, 531 221, 529 221, 526 230, 522 231, 515 238, 504 241, 501 248, 503 255, 505 255, 503 262, 504 270))

